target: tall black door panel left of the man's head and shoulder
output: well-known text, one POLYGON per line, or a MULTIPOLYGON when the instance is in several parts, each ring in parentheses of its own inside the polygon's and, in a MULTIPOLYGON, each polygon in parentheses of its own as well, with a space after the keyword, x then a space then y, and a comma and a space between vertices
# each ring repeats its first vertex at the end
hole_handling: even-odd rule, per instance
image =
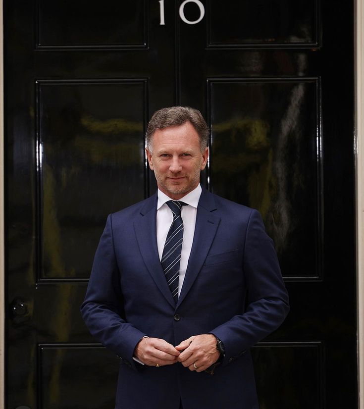
POLYGON ((105 213, 144 199, 147 87, 37 81, 41 281, 87 279, 105 213))

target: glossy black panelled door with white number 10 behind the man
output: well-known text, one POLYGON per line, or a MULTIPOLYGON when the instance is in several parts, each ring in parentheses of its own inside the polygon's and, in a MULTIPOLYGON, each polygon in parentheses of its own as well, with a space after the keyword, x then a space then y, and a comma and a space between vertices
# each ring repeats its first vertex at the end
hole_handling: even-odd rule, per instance
POLYGON ((113 408, 79 305, 107 214, 155 191, 144 132, 172 104, 208 118, 203 183, 276 244, 291 312, 253 348, 261 409, 357 407, 353 5, 182 3, 4 1, 7 408, 113 408))

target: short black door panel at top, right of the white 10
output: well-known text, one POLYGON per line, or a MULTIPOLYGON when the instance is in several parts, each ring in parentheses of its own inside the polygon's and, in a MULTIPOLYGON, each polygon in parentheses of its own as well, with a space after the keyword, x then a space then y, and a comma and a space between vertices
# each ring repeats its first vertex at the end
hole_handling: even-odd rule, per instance
POLYGON ((316 0, 209 0, 208 47, 314 47, 317 11, 316 0))

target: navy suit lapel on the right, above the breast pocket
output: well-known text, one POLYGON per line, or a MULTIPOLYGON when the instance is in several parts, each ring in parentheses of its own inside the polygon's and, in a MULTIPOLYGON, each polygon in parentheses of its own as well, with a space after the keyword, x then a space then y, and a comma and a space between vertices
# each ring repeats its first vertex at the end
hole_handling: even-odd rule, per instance
POLYGON ((213 196, 206 189, 203 189, 197 207, 195 234, 191 254, 188 259, 186 275, 181 294, 178 298, 177 307, 182 303, 200 273, 215 237, 220 217, 213 214, 214 210, 216 210, 216 204, 213 196))

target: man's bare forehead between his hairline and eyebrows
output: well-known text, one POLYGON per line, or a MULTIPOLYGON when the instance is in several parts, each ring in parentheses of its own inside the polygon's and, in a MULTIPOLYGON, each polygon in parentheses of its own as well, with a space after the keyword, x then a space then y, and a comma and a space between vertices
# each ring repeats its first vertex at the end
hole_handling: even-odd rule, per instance
POLYGON ((153 135, 153 150, 200 149, 200 137, 190 122, 179 126, 157 129, 153 135))

